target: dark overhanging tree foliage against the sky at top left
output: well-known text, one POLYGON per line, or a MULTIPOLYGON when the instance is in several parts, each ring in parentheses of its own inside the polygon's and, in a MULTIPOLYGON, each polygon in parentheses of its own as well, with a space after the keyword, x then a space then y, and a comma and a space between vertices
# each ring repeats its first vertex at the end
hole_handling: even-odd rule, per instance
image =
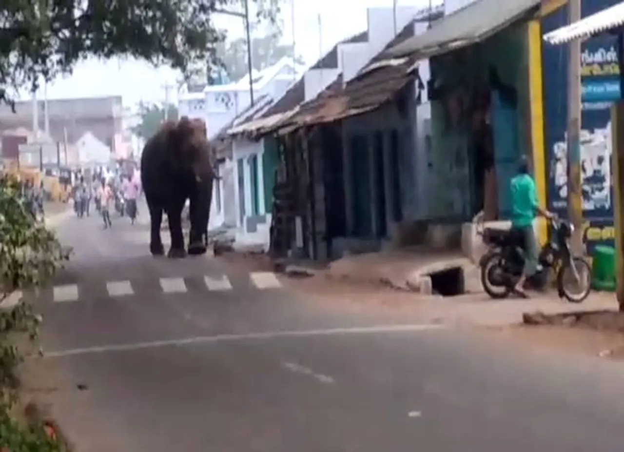
MULTIPOLYGON (((217 64, 225 38, 215 9, 240 9, 245 0, 2 0, 0 101, 16 90, 71 72, 87 57, 128 56, 170 64, 217 64)), ((275 21, 279 0, 250 0, 258 17, 275 21)))

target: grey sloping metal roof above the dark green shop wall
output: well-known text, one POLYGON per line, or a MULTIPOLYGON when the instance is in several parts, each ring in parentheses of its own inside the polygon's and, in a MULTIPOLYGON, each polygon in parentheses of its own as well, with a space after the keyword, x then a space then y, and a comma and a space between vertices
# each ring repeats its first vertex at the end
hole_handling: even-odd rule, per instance
POLYGON ((423 34, 393 46, 386 56, 422 59, 469 46, 521 19, 539 4, 540 0, 476 0, 434 22, 423 34))

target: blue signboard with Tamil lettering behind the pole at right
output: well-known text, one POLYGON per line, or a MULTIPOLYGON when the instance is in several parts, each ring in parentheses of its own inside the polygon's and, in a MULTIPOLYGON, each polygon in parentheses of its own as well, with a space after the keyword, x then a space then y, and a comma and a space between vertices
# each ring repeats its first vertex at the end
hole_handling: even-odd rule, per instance
MULTIPOLYGON (((583 0, 583 17, 617 4, 618 0, 583 0)), ((547 33, 568 22, 567 6, 542 19, 547 33)), ((567 215, 567 69, 568 46, 544 43, 544 137, 547 153, 548 208, 567 215)), ((585 242, 613 243, 611 112, 620 99, 617 37, 603 34, 582 43, 581 171, 585 242)))

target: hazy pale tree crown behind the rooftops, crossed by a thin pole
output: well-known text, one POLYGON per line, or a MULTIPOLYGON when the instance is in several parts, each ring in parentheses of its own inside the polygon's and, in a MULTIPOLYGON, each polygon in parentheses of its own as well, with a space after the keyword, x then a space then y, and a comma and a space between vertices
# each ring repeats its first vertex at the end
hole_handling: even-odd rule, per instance
MULTIPOLYGON (((260 71, 273 66, 283 57, 294 58, 297 64, 303 64, 303 58, 295 56, 292 44, 281 44, 281 33, 273 32, 251 39, 251 67, 260 71)), ((219 42, 217 56, 222 62, 230 81, 240 80, 248 72, 247 41, 244 37, 232 41, 219 42)))

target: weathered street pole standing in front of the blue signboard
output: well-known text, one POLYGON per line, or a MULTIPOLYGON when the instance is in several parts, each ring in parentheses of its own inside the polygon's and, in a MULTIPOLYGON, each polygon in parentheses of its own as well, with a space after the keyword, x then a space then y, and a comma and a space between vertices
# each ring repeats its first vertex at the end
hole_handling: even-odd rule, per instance
MULTIPOLYGON (((581 19, 581 0, 568 2, 568 21, 570 24, 581 19)), ((581 129, 581 41, 570 42, 568 55, 568 219, 574 225, 572 250, 583 253, 583 199, 580 155, 581 129)))

